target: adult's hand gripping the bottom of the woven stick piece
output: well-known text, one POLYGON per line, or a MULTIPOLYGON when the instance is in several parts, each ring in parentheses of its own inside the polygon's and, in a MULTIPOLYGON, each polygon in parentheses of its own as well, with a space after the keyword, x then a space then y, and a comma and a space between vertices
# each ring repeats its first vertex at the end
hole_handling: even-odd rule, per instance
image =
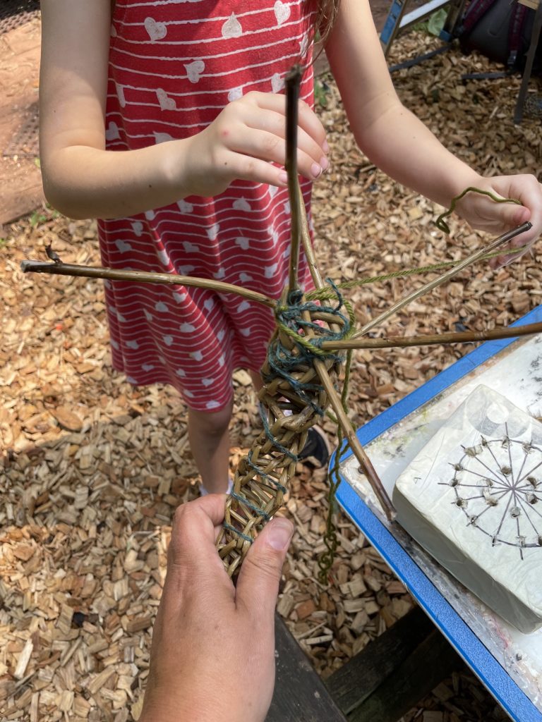
POLYGON ((261 722, 275 684, 275 603, 293 526, 274 518, 234 587, 215 549, 225 495, 176 511, 140 722, 261 722))

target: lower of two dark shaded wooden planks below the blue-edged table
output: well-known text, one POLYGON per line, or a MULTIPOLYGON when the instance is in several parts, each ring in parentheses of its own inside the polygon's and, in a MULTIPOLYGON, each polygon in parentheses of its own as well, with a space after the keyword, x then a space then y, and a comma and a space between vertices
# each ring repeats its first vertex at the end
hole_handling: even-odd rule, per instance
POLYGON ((397 722, 442 679, 462 667, 452 645, 434 629, 394 674, 348 715, 348 722, 397 722))

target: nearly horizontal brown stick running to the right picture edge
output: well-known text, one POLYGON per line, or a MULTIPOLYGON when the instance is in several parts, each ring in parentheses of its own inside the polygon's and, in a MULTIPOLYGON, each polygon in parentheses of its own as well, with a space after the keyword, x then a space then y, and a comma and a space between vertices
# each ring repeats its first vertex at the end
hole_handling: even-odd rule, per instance
POLYGON ((461 333, 423 334, 423 336, 390 336, 387 339, 348 339, 347 341, 324 341, 325 351, 346 349, 393 349, 408 346, 436 346, 439 344, 468 344, 478 341, 515 339, 518 336, 542 334, 542 323, 528 323, 525 326, 509 326, 491 331, 462 331, 461 333))

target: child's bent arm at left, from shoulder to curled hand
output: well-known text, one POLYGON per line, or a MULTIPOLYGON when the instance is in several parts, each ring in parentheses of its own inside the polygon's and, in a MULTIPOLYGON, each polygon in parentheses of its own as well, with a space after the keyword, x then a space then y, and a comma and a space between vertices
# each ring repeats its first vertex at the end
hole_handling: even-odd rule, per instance
MULTIPOLYGON (((120 217, 192 194, 213 196, 236 178, 285 186, 285 98, 249 93, 205 131, 132 151, 105 149, 110 0, 42 0, 40 149, 48 200, 72 217, 120 217)), ((322 173, 322 124, 300 104, 298 168, 322 173)))

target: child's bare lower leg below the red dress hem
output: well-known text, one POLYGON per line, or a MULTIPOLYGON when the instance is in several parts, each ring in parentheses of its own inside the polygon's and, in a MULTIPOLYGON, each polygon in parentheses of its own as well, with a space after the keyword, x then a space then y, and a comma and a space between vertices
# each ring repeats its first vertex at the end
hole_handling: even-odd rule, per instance
POLYGON ((202 484, 210 494, 228 490, 230 434, 233 399, 218 412, 188 410, 188 435, 202 484))

